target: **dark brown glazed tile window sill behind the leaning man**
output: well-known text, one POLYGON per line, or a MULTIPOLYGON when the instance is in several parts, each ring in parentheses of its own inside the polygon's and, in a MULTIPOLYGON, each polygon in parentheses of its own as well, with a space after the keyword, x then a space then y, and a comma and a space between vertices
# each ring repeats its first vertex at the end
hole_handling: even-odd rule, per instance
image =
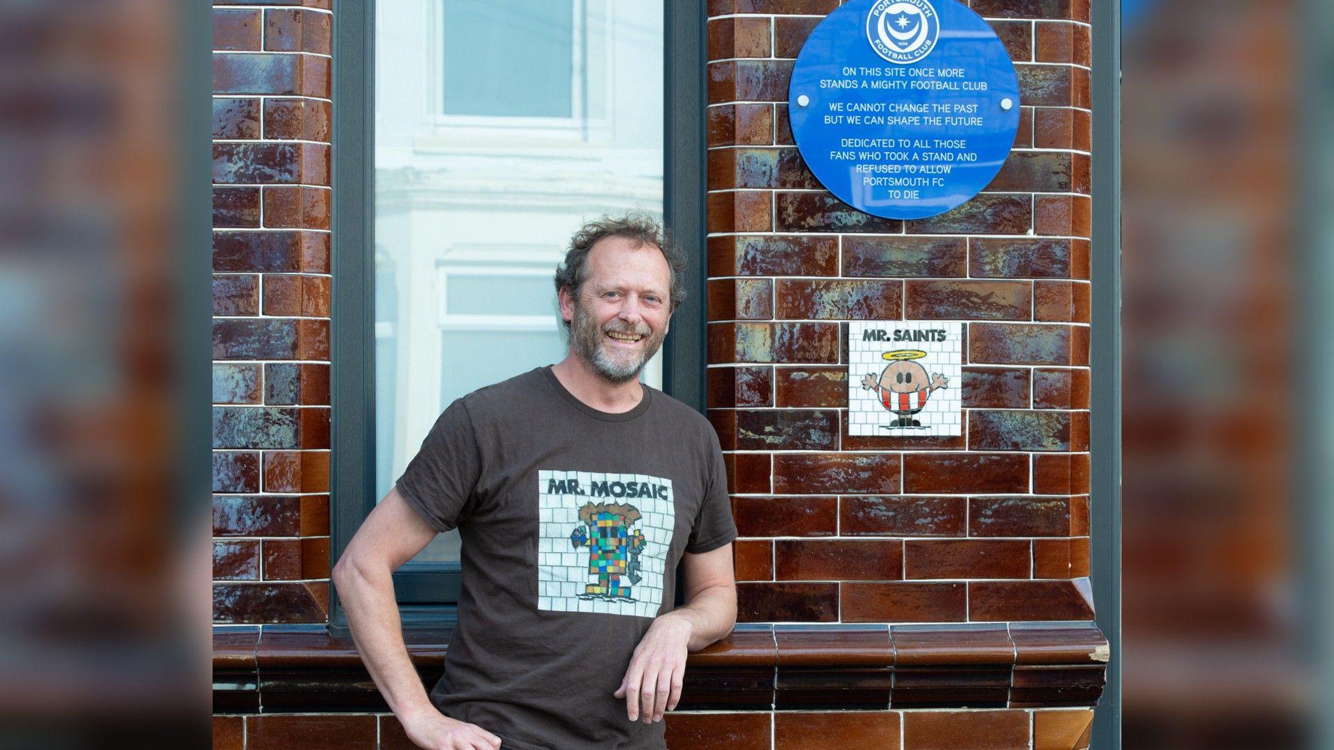
MULTIPOLYGON (((427 687, 450 633, 407 633, 427 687)), ((690 655, 678 710, 1093 706, 1107 641, 1091 622, 740 625, 690 655)), ((351 638, 213 635, 213 711, 386 711, 351 638), (263 709, 261 709, 263 707, 263 709)))

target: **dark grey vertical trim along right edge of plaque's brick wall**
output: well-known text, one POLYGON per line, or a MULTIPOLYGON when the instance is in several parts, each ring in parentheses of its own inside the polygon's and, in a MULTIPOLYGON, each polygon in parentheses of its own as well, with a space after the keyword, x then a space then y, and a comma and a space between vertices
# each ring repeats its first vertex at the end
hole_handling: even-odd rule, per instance
POLYGON ((1091 574, 1107 637, 1093 750, 1121 747, 1121 4, 1093 4, 1091 574))

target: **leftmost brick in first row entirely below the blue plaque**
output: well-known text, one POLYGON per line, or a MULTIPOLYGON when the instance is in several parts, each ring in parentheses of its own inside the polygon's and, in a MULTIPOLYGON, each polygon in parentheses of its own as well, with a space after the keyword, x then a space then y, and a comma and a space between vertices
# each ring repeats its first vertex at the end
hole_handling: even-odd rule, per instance
POLYGON ((712 276, 836 276, 838 238, 708 238, 708 272, 712 276))

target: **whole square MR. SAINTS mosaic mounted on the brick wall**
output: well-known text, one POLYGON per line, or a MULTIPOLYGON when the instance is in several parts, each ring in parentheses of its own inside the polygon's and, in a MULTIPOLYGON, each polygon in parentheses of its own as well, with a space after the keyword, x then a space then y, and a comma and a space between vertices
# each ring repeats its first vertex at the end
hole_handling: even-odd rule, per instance
POLYGON ((963 434, 963 323, 854 320, 847 354, 848 435, 963 434))

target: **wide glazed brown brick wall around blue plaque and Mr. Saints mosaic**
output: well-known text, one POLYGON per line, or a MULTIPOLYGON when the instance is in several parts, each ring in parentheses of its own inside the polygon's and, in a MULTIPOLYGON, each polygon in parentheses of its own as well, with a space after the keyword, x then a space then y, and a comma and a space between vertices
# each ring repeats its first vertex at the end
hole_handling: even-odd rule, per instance
POLYGON ((908 222, 839 202, 792 144, 794 59, 838 5, 708 3, 708 416, 740 619, 1091 619, 1089 3, 972 0, 1019 133, 980 195, 908 222), (963 435, 847 434, 850 319, 967 322, 963 435))

